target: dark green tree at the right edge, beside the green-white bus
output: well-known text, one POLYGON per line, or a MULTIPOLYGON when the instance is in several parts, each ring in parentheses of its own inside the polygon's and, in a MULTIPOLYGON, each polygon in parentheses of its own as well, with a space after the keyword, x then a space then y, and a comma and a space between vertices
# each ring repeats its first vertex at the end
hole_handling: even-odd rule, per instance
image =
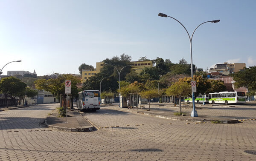
POLYGON ((250 66, 244 69, 244 71, 239 71, 232 74, 233 80, 236 88, 246 87, 248 89, 249 95, 256 95, 256 66, 250 66))

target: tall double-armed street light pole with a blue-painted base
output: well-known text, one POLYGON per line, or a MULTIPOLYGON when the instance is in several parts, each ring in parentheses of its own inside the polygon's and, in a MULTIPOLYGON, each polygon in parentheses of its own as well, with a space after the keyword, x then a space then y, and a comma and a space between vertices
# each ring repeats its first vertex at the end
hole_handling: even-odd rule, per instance
MULTIPOLYGON (((163 14, 163 13, 159 13, 158 16, 160 16, 160 17, 170 17, 170 16, 168 16, 167 14, 163 14)), ((172 19, 176 20, 178 23, 180 23, 180 21, 178 21, 177 19, 175 19, 175 18, 173 18, 173 17, 170 17, 170 18, 172 18, 172 19)), ((204 23, 208 23, 208 22, 211 22, 211 23, 218 23, 218 22, 220 22, 220 20, 206 21, 206 22, 204 22, 204 23)), ((201 26, 202 24, 204 24, 204 23, 201 23, 200 25, 198 25, 198 26, 195 28, 195 30, 196 30, 199 26, 201 26)), ((192 33, 192 36, 190 37, 189 32, 187 31, 187 29, 185 28, 185 26, 184 26, 182 23, 180 23, 180 25, 183 26, 183 28, 186 30, 186 33, 187 33, 188 36, 189 36, 190 53, 191 53, 191 79, 192 79, 191 81, 193 81, 192 38, 193 38, 193 35, 194 35, 194 33, 195 33, 195 30, 194 30, 194 32, 192 33)), ((191 117, 198 117, 197 111, 195 110, 194 92, 192 92, 192 101, 193 101, 193 110, 192 110, 192 112, 191 112, 191 117)))

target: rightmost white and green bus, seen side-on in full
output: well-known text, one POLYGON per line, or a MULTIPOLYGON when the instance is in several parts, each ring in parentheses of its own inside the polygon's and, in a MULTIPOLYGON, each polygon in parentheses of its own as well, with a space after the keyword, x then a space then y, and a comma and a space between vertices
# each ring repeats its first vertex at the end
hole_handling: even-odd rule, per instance
POLYGON ((216 92, 209 93, 209 103, 245 103, 244 92, 216 92))

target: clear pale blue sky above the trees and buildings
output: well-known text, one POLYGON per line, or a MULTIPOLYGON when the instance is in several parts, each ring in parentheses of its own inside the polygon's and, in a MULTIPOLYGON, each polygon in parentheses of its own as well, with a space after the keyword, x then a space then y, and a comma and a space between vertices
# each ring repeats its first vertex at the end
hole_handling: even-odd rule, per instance
POLYGON ((82 63, 130 55, 256 65, 256 0, 0 0, 0 69, 79 74, 82 63))

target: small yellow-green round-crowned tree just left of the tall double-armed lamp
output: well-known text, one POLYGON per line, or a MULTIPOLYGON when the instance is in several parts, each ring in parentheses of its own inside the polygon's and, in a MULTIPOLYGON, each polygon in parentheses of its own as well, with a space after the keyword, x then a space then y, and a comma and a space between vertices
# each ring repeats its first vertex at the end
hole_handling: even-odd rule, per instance
POLYGON ((166 89, 166 94, 171 96, 175 95, 179 97, 180 115, 181 113, 181 96, 186 97, 191 92, 191 86, 184 81, 175 82, 172 86, 166 89))

